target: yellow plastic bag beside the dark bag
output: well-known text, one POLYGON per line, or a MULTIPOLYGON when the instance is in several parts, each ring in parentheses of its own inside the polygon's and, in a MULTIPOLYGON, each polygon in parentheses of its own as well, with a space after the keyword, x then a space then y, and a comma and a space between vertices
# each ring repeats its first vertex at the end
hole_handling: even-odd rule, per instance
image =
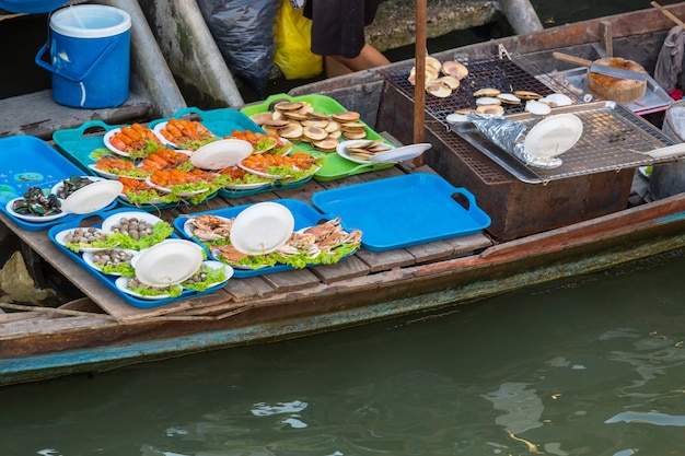
POLYGON ((324 58, 312 54, 312 21, 302 9, 295 10, 290 0, 282 0, 276 19, 276 51, 274 62, 286 79, 309 79, 324 71, 324 58))

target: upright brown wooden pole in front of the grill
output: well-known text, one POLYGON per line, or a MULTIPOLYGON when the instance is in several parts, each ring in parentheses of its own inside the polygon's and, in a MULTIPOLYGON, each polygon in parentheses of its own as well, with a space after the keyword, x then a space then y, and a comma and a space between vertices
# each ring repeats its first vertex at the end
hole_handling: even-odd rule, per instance
MULTIPOLYGON (((426 21, 427 1, 416 0, 416 44, 414 60, 416 66, 416 85, 414 86, 414 143, 423 142, 426 120, 426 21)), ((423 164, 419 156, 414 164, 423 164)))

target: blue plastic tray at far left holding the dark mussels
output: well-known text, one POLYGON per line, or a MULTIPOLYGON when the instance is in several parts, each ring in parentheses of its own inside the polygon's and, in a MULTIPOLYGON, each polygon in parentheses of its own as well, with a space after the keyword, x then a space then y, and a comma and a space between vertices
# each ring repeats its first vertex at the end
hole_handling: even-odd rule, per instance
POLYGON ((47 230, 76 219, 76 215, 65 215, 49 222, 28 222, 11 215, 5 209, 8 201, 21 197, 31 187, 50 189, 60 180, 86 174, 47 142, 31 136, 1 138, 0 169, 0 210, 22 229, 47 230))

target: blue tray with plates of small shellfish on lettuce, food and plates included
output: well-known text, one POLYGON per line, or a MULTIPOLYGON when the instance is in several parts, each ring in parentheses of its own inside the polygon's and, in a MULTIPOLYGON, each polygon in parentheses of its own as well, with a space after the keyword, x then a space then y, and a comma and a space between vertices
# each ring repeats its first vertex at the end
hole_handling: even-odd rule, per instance
POLYGON ((81 220, 53 226, 48 237, 77 264, 135 307, 148 308, 211 293, 233 269, 208 260, 196 243, 142 210, 100 212, 101 224, 81 220))

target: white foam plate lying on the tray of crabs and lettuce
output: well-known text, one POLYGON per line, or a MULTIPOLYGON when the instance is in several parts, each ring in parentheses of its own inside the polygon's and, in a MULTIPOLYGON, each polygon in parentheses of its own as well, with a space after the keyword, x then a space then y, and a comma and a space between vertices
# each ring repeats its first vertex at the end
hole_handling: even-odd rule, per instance
POLYGON ((258 202, 237 214, 231 226, 231 244, 246 255, 269 254, 281 247, 294 229, 288 208, 277 202, 258 202))

